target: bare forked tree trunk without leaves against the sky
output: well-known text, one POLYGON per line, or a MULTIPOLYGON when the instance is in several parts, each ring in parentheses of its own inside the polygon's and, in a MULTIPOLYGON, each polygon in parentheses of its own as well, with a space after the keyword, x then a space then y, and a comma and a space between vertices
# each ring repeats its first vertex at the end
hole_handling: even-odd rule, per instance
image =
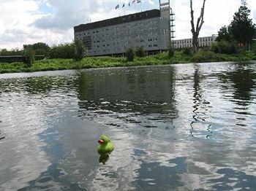
POLYGON ((195 50, 195 52, 198 51, 198 36, 199 36, 199 32, 203 26, 204 20, 203 20, 203 15, 204 15, 204 9, 205 9, 205 5, 206 5, 206 0, 203 0, 203 7, 201 8, 201 12, 200 12, 200 17, 198 17, 197 19, 197 25, 195 27, 195 23, 194 23, 194 10, 193 10, 193 4, 192 4, 192 0, 190 0, 190 15, 191 15, 191 26, 192 26, 192 44, 193 44, 193 49, 195 50))

